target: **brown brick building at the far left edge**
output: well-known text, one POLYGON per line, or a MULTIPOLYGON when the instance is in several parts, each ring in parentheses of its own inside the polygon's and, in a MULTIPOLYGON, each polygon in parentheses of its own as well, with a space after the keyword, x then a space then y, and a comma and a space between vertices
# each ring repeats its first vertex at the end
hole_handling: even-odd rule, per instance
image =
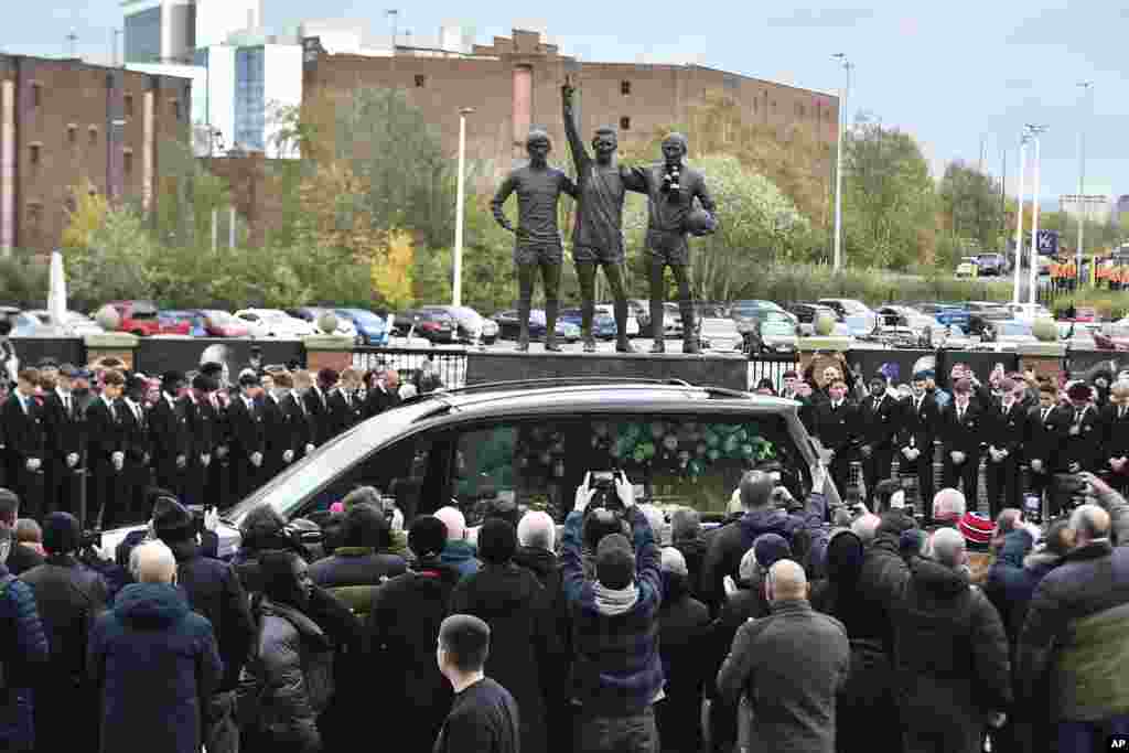
POLYGON ((72 187, 157 201, 163 141, 186 139, 187 79, 0 54, 0 253, 59 245, 72 187))

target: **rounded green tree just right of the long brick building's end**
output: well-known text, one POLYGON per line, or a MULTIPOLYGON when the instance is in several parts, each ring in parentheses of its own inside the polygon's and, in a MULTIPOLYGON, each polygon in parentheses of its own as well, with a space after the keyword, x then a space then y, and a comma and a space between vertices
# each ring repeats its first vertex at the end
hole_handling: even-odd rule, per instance
POLYGON ((846 260, 896 270, 922 263, 937 204, 921 148, 866 115, 843 135, 846 260))

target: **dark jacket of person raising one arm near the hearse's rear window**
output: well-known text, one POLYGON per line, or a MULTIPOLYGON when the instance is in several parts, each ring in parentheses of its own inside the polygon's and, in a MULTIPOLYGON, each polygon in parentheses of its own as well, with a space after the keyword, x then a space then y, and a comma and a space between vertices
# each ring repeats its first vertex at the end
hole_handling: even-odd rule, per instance
POLYGON ((759 507, 746 511, 738 520, 723 526, 710 537, 709 549, 702 561, 702 599, 712 605, 715 612, 717 611, 725 597, 723 586, 725 576, 737 577, 741 558, 752 549, 758 536, 765 533, 778 534, 791 544, 793 536, 806 528, 812 534, 809 561, 813 567, 822 567, 826 541, 820 533, 825 518, 826 499, 823 494, 813 493, 808 496, 803 513, 789 514, 778 507, 759 507))

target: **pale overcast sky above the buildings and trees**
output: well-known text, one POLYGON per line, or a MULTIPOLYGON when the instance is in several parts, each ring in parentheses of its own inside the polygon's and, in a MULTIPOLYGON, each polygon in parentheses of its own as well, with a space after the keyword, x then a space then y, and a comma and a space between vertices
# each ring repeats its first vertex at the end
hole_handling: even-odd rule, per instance
MULTIPOLYGON (((216 2, 222 0, 201 0, 216 2)), ((391 36, 384 11, 353 0, 264 0, 274 30, 315 18, 364 19, 391 36), (313 6, 313 9, 312 9, 313 6)), ((996 175, 1007 149, 1007 183, 1016 190, 1018 133, 1025 123, 1049 126, 1042 139, 1042 190, 1053 199, 1078 190, 1078 133, 1086 130, 1087 193, 1129 193, 1123 148, 1129 131, 1129 72, 1123 53, 1129 10, 1113 2, 938 3, 695 3, 572 0, 531 6, 492 0, 400 3, 401 34, 435 38, 443 23, 474 28, 476 38, 508 35, 515 26, 548 30, 564 54, 589 61, 694 62, 795 86, 837 93, 843 72, 831 59, 855 64, 849 112, 865 110, 884 125, 912 133, 936 175, 947 161, 977 163, 996 175), (417 6, 417 7, 409 7, 417 6), (465 16, 469 8, 479 16, 465 16), (644 8, 648 10, 644 11, 644 8), (703 11, 699 11, 699 8, 703 11), (720 8, 724 8, 721 10, 720 8), (534 15, 531 15, 533 11, 534 15), (1093 81, 1092 106, 1079 81, 1093 81)), ((5 3, 5 52, 60 55, 67 34, 79 54, 110 59, 121 10, 108 0, 5 3)), ((400 37, 403 41, 403 36, 400 37)), ((1027 170, 1027 190, 1031 169, 1027 170)))

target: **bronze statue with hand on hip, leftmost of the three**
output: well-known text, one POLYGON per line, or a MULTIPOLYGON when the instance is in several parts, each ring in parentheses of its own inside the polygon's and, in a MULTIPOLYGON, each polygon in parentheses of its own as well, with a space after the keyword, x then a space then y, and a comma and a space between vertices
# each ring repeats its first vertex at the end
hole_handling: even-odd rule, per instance
POLYGON ((549 165, 552 143, 545 131, 531 130, 525 140, 525 150, 530 155, 530 163, 506 176, 490 207, 498 224, 517 236, 514 245, 518 286, 517 318, 520 326, 517 350, 530 349, 530 308, 533 304, 533 286, 540 270, 545 290, 545 350, 559 351, 561 347, 557 344, 557 308, 564 251, 557 227, 557 203, 561 193, 576 199, 576 184, 563 172, 549 165), (504 211, 506 200, 515 192, 516 229, 504 211))

